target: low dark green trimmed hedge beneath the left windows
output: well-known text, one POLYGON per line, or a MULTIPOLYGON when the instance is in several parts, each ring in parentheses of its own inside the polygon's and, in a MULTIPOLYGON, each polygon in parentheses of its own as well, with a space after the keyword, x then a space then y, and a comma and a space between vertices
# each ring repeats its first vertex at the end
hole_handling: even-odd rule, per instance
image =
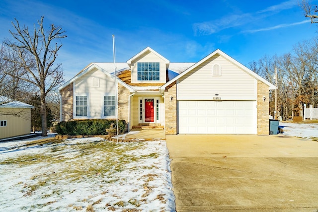
MULTIPOLYGON (((113 119, 60 122, 56 125, 56 132, 59 135, 69 136, 106 135, 106 129, 109 129, 112 123, 116 126, 116 120, 113 119)), ((119 133, 124 132, 125 127, 125 120, 118 120, 119 133)))

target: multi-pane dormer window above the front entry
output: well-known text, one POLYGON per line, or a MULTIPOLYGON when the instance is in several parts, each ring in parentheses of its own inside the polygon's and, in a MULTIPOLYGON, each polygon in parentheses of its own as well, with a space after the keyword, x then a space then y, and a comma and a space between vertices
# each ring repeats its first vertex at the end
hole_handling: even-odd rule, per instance
POLYGON ((159 63, 137 63, 137 79, 141 81, 158 81, 159 80, 159 63))

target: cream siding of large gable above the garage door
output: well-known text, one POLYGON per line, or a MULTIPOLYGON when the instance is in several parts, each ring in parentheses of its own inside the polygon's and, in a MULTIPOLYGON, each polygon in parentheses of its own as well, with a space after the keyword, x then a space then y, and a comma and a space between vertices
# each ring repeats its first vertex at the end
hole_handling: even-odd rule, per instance
POLYGON ((257 80, 219 55, 208 59, 177 81, 178 100, 256 100, 257 80), (213 75, 218 64, 220 76, 213 75))

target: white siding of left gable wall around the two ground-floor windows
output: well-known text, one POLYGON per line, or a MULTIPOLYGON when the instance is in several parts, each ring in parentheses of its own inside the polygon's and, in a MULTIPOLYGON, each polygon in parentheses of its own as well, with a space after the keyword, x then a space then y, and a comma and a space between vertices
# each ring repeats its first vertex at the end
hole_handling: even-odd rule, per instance
MULTIPOLYGON (((89 71, 74 82, 73 96, 87 95, 87 116, 89 119, 103 119, 104 96, 115 96, 114 80, 97 69, 89 71), (97 80, 98 79, 98 80, 97 80), (96 86, 99 82, 99 86, 96 86)), ((74 118, 76 116, 76 102, 74 99, 74 118)))

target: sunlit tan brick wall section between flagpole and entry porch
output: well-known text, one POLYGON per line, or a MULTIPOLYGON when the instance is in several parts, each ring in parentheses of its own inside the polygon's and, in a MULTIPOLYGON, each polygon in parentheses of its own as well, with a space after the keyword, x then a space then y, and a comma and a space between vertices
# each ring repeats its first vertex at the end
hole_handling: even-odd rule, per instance
POLYGON ((118 84, 118 119, 129 120, 129 100, 130 91, 123 85, 118 84))

